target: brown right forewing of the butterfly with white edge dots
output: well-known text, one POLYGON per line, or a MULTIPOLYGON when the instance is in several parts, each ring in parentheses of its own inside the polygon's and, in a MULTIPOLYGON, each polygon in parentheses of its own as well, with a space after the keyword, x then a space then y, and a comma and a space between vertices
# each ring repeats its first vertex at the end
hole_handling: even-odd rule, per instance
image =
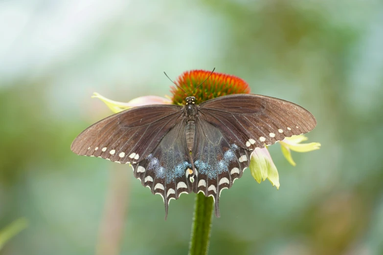
POLYGON ((301 106, 277 98, 235 94, 200 104, 201 117, 218 127, 230 143, 253 150, 285 137, 311 131, 314 116, 301 106))

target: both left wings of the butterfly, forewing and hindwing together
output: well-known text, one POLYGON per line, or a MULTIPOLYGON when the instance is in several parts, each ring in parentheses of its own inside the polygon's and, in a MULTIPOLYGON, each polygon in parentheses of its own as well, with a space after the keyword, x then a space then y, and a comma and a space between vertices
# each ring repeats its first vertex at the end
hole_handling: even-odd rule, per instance
POLYGON ((162 196, 166 215, 171 199, 193 191, 182 106, 141 106, 114 114, 84 130, 71 149, 131 163, 141 184, 162 196))

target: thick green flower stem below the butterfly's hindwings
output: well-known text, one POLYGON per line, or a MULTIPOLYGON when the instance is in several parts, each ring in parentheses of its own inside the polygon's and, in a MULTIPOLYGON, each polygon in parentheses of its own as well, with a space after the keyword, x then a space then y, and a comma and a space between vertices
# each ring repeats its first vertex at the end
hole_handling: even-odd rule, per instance
POLYGON ((203 193, 196 195, 189 255, 206 255, 209 249, 213 198, 203 193))

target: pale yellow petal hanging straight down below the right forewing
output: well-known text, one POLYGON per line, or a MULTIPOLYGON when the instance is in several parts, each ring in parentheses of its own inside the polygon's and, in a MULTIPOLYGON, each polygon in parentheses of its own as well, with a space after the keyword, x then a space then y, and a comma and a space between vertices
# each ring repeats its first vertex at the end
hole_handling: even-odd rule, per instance
POLYGON ((272 186, 279 189, 279 175, 274 162, 271 159, 269 150, 265 148, 255 148, 250 156, 250 172, 254 179, 261 181, 268 179, 272 186))

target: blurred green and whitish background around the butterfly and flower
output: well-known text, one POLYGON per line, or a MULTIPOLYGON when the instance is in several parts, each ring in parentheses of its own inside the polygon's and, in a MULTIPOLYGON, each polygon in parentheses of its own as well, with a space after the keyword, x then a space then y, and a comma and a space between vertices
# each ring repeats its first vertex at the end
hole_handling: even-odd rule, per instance
POLYGON ((194 195, 170 203, 130 167, 70 151, 111 114, 90 95, 169 95, 166 71, 216 67, 309 109, 320 150, 270 153, 279 191, 245 171, 221 196, 210 255, 383 254, 380 0, 0 1, 4 255, 186 254, 194 195))

